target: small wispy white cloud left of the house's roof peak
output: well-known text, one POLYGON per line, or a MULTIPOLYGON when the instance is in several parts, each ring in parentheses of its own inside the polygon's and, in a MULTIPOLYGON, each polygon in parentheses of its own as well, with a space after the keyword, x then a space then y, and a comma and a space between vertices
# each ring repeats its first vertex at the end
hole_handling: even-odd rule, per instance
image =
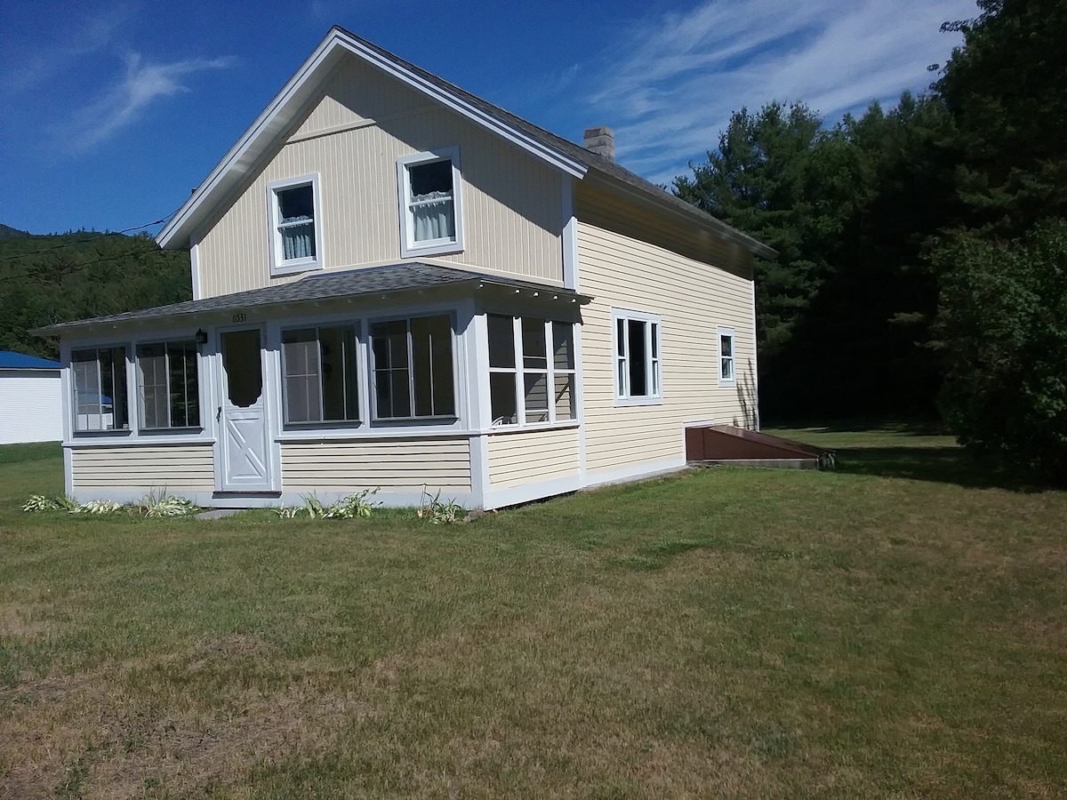
POLYGON ((131 53, 126 59, 125 78, 99 99, 75 112, 63 138, 76 151, 91 149, 137 122, 157 98, 188 92, 180 82, 186 76, 222 69, 233 63, 234 59, 227 57, 150 64, 140 54, 131 53))

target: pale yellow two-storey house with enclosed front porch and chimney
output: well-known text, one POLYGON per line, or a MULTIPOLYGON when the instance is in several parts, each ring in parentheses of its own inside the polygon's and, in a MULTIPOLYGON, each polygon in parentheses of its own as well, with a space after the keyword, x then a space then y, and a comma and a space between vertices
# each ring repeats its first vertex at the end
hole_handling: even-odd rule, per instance
POLYGON ((66 490, 498 508, 757 428, 765 245, 333 28, 160 231, 193 300, 61 336, 66 490))

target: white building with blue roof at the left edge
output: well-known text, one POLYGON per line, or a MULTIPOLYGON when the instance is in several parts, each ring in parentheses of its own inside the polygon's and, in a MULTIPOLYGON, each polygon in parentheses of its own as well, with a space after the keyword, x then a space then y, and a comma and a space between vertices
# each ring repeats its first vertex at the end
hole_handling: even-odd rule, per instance
POLYGON ((0 445, 63 438, 60 364, 0 350, 0 445))

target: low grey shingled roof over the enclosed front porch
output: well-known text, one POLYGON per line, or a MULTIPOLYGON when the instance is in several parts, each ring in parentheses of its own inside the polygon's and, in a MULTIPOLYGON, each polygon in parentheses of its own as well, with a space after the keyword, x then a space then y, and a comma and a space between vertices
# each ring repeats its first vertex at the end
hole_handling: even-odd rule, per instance
POLYGON ((504 275, 490 275, 471 270, 441 267, 423 261, 404 261, 402 263, 369 267, 364 269, 345 270, 343 272, 319 272, 305 275, 299 281, 268 286, 262 289, 250 289, 234 294, 221 294, 204 300, 189 300, 184 303, 145 308, 140 311, 124 311, 106 317, 58 322, 32 331, 42 336, 63 334, 75 330, 100 324, 121 322, 144 322, 166 318, 205 315, 214 311, 227 311, 234 308, 252 306, 285 305, 333 298, 353 298, 368 294, 388 294, 392 292, 411 291, 417 289, 433 289, 444 286, 469 285, 496 286, 519 291, 539 292, 571 298, 579 303, 588 303, 592 298, 579 294, 573 289, 545 286, 529 281, 511 278, 504 275))

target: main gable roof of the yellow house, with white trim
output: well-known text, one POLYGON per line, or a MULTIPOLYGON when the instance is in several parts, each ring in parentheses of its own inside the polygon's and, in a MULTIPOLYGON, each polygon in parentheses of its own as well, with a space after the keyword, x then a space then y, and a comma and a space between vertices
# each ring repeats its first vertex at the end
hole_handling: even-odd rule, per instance
POLYGON ((330 29, 315 52, 159 231, 156 241, 161 247, 176 250, 188 246, 190 237, 214 206, 255 169, 267 149, 294 124, 297 115, 318 91, 324 77, 348 55, 372 64, 574 178, 595 176, 609 190, 651 203, 669 214, 683 217, 690 224, 700 225, 757 255, 766 258, 777 256, 762 242, 679 199, 611 159, 539 128, 338 26, 330 29))

